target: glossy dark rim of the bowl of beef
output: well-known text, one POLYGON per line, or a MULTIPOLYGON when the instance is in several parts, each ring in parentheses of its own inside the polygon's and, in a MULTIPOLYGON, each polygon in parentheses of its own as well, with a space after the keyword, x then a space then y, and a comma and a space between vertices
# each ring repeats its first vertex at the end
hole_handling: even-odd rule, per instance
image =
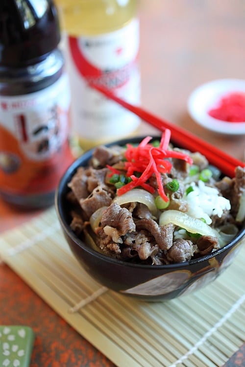
MULTIPOLYGON (((136 136, 136 137, 132 137, 132 138, 124 138, 124 139, 120 139, 120 140, 116 140, 113 141, 111 143, 108 144, 104 144, 105 146, 112 146, 112 145, 124 145, 125 143, 133 143, 133 142, 138 142, 141 141, 143 138, 145 138, 145 136, 136 136)), ((159 139, 159 136, 153 136, 152 139, 159 139)), ((96 149, 92 148, 87 150, 86 152, 84 152, 81 156, 79 156, 77 159, 75 159, 75 161, 73 161, 73 163, 68 167, 68 169, 65 171, 65 173, 63 174, 63 176, 60 179, 60 182, 55 190, 55 197, 54 197, 54 206, 55 206, 55 211, 56 211, 56 215, 58 217, 58 220, 60 222, 60 225, 62 227, 62 229, 66 232, 67 236, 70 237, 73 242, 78 245, 83 251, 90 253, 93 256, 96 256, 98 259, 102 259, 103 261, 107 261, 109 263, 113 263, 115 265, 121 265, 121 266, 129 266, 129 267, 133 267, 133 268, 140 268, 140 269, 158 269, 158 270, 168 270, 168 269, 179 269, 179 268, 184 268, 186 266, 191 266, 191 265, 195 265, 198 263, 202 263, 204 261, 207 261, 211 258, 216 257, 217 255, 221 254, 222 252, 225 252, 226 250, 234 247, 235 245, 237 245, 240 240, 245 236, 245 224, 243 226, 243 229, 241 229, 238 234, 231 240, 231 242, 229 242, 227 245, 221 247, 220 249, 211 252, 205 256, 196 258, 196 259, 192 259, 189 261, 184 261, 184 262, 180 262, 180 263, 174 263, 174 264, 168 264, 168 265, 147 265, 147 264, 137 264, 137 263, 130 263, 127 261, 123 261, 120 259, 116 259, 107 255, 104 255, 101 252, 97 252, 96 250, 93 250, 91 247, 89 247, 84 241, 82 241, 81 239, 79 239, 76 234, 73 232, 73 230, 71 229, 69 223, 67 223, 67 221, 65 220, 65 216, 64 216, 64 211, 63 211, 63 207, 62 207, 62 195, 63 195, 63 190, 65 189, 65 185, 70 181, 70 178, 72 177, 72 175, 75 173, 76 169, 80 166, 82 166, 82 162, 83 161, 88 161, 91 156, 93 151, 96 149)))

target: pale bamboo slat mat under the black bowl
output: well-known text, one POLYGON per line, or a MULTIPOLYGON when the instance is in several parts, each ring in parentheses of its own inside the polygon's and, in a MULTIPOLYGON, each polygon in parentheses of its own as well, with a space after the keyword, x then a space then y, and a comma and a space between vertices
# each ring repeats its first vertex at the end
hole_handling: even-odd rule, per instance
POLYGON ((245 248, 212 284, 167 302, 109 291, 78 264, 54 208, 0 236, 0 256, 119 367, 214 367, 245 342, 245 248))

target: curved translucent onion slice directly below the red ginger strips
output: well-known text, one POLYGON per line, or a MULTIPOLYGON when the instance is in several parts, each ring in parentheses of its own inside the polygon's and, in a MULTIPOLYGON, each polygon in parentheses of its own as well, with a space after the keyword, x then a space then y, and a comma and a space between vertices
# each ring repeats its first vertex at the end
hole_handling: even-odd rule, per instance
POLYGON ((113 203, 118 205, 135 202, 145 204, 148 206, 153 216, 157 216, 157 207, 154 203, 154 196, 144 189, 134 188, 121 196, 116 196, 113 199, 113 203))

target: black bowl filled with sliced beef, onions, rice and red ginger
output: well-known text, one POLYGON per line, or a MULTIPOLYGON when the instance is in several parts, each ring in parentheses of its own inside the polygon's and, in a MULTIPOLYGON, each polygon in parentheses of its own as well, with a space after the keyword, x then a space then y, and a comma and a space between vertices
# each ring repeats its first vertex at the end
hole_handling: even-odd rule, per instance
POLYGON ((245 243, 245 168, 226 177, 170 132, 91 149, 56 190, 78 262, 100 284, 145 300, 206 286, 245 243))

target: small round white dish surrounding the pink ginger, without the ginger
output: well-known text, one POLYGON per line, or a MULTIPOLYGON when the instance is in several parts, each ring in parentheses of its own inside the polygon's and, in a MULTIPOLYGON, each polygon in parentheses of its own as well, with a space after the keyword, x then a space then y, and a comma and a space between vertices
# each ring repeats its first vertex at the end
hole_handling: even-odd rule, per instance
POLYGON ((245 122, 221 121, 208 114, 228 93, 245 93, 245 80, 218 79, 196 88, 188 99, 188 111, 199 125, 206 129, 229 135, 245 134, 245 122))

